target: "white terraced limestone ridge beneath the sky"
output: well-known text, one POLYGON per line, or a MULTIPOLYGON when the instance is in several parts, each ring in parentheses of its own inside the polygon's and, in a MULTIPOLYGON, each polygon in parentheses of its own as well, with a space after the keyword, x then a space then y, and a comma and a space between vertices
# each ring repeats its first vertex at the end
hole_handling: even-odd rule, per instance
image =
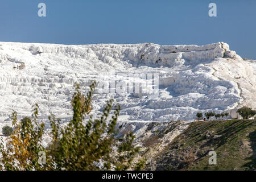
POLYGON ((109 85, 108 79, 126 81, 130 74, 143 82, 131 73, 158 73, 158 97, 96 90, 95 112, 114 98, 122 109, 119 121, 192 120, 197 112, 217 113, 247 104, 255 108, 255 70, 255 61, 243 60, 222 42, 205 46, 0 42, 0 118, 8 120, 12 110, 31 115, 36 103, 42 118, 50 112, 68 118, 75 82, 86 92, 92 80, 109 85))

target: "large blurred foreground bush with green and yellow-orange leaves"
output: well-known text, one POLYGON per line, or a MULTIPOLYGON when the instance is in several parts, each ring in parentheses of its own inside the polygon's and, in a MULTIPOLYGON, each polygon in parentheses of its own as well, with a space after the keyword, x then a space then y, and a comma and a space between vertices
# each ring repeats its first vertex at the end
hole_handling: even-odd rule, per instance
POLYGON ((106 103, 102 116, 85 121, 85 115, 92 110, 91 100, 96 82, 90 85, 90 91, 84 96, 77 85, 73 95, 73 118, 65 127, 60 119, 49 117, 51 123, 51 144, 42 146, 44 123, 39 123, 38 105, 32 118, 23 118, 18 122, 13 113, 14 134, 7 140, 6 148, 0 144, 0 169, 6 170, 126 170, 139 169, 142 161, 134 164, 133 159, 139 151, 133 146, 134 135, 127 133, 115 138, 115 125, 120 111, 116 106, 109 119, 113 100, 106 103), (46 163, 39 163, 40 152, 45 152, 46 163))

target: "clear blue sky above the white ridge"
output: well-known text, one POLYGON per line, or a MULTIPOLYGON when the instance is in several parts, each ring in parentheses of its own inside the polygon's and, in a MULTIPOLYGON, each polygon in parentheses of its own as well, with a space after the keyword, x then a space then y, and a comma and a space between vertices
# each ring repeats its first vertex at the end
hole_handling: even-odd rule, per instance
POLYGON ((226 42, 256 59, 255 0, 8 0, 0 2, 0 41, 57 44, 226 42), (46 3, 47 16, 38 16, 46 3), (217 17, 208 5, 217 5, 217 17))

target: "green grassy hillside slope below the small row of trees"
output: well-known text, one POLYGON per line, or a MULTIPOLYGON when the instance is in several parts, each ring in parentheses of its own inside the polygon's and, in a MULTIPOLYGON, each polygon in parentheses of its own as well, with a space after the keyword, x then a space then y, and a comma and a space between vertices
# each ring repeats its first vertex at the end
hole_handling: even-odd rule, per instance
POLYGON ((193 122, 158 155, 157 170, 255 170, 256 121, 193 122), (217 154, 210 165, 209 151, 217 154))

